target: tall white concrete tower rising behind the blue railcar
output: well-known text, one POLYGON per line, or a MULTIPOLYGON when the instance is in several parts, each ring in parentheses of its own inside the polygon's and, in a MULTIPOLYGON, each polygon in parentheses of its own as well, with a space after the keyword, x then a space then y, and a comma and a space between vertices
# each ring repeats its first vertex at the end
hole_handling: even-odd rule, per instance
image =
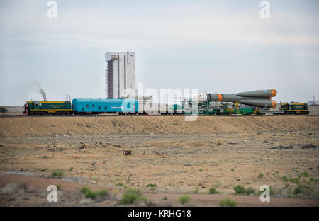
POLYGON ((135 91, 135 52, 107 52, 106 98, 120 98, 135 91))

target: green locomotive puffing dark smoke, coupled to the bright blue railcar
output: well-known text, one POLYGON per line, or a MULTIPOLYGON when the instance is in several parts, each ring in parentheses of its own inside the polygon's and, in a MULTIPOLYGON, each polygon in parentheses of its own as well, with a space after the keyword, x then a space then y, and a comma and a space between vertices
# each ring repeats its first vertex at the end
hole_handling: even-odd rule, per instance
POLYGON ((69 101, 26 101, 23 108, 25 115, 69 115, 73 114, 69 101))

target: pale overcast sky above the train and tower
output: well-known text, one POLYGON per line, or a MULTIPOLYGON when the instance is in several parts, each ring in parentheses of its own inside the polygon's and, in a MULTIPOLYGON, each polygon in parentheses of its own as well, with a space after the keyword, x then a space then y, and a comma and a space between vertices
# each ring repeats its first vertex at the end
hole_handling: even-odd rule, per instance
POLYGON ((0 1, 0 104, 105 98, 104 53, 136 52, 144 88, 319 99, 319 1, 0 1), (38 83, 35 83, 38 82, 38 83))

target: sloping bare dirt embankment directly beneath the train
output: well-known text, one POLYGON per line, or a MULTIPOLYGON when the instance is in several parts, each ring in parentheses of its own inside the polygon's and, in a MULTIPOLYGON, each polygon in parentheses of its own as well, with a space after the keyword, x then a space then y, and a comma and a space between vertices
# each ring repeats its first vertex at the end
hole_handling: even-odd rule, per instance
POLYGON ((306 116, 200 116, 195 121, 185 121, 184 116, 0 118, 0 136, 212 134, 318 128, 319 117, 306 116))

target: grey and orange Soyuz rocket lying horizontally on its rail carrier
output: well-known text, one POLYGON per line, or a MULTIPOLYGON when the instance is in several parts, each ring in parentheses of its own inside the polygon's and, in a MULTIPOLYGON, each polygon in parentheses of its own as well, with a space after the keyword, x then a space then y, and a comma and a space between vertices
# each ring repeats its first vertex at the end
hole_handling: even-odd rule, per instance
POLYGON ((198 94, 193 96, 193 100, 198 102, 205 101, 224 101, 224 102, 238 102, 250 106, 257 106, 260 108, 274 108, 276 102, 272 97, 276 96, 277 91, 274 89, 246 91, 237 94, 198 94))

